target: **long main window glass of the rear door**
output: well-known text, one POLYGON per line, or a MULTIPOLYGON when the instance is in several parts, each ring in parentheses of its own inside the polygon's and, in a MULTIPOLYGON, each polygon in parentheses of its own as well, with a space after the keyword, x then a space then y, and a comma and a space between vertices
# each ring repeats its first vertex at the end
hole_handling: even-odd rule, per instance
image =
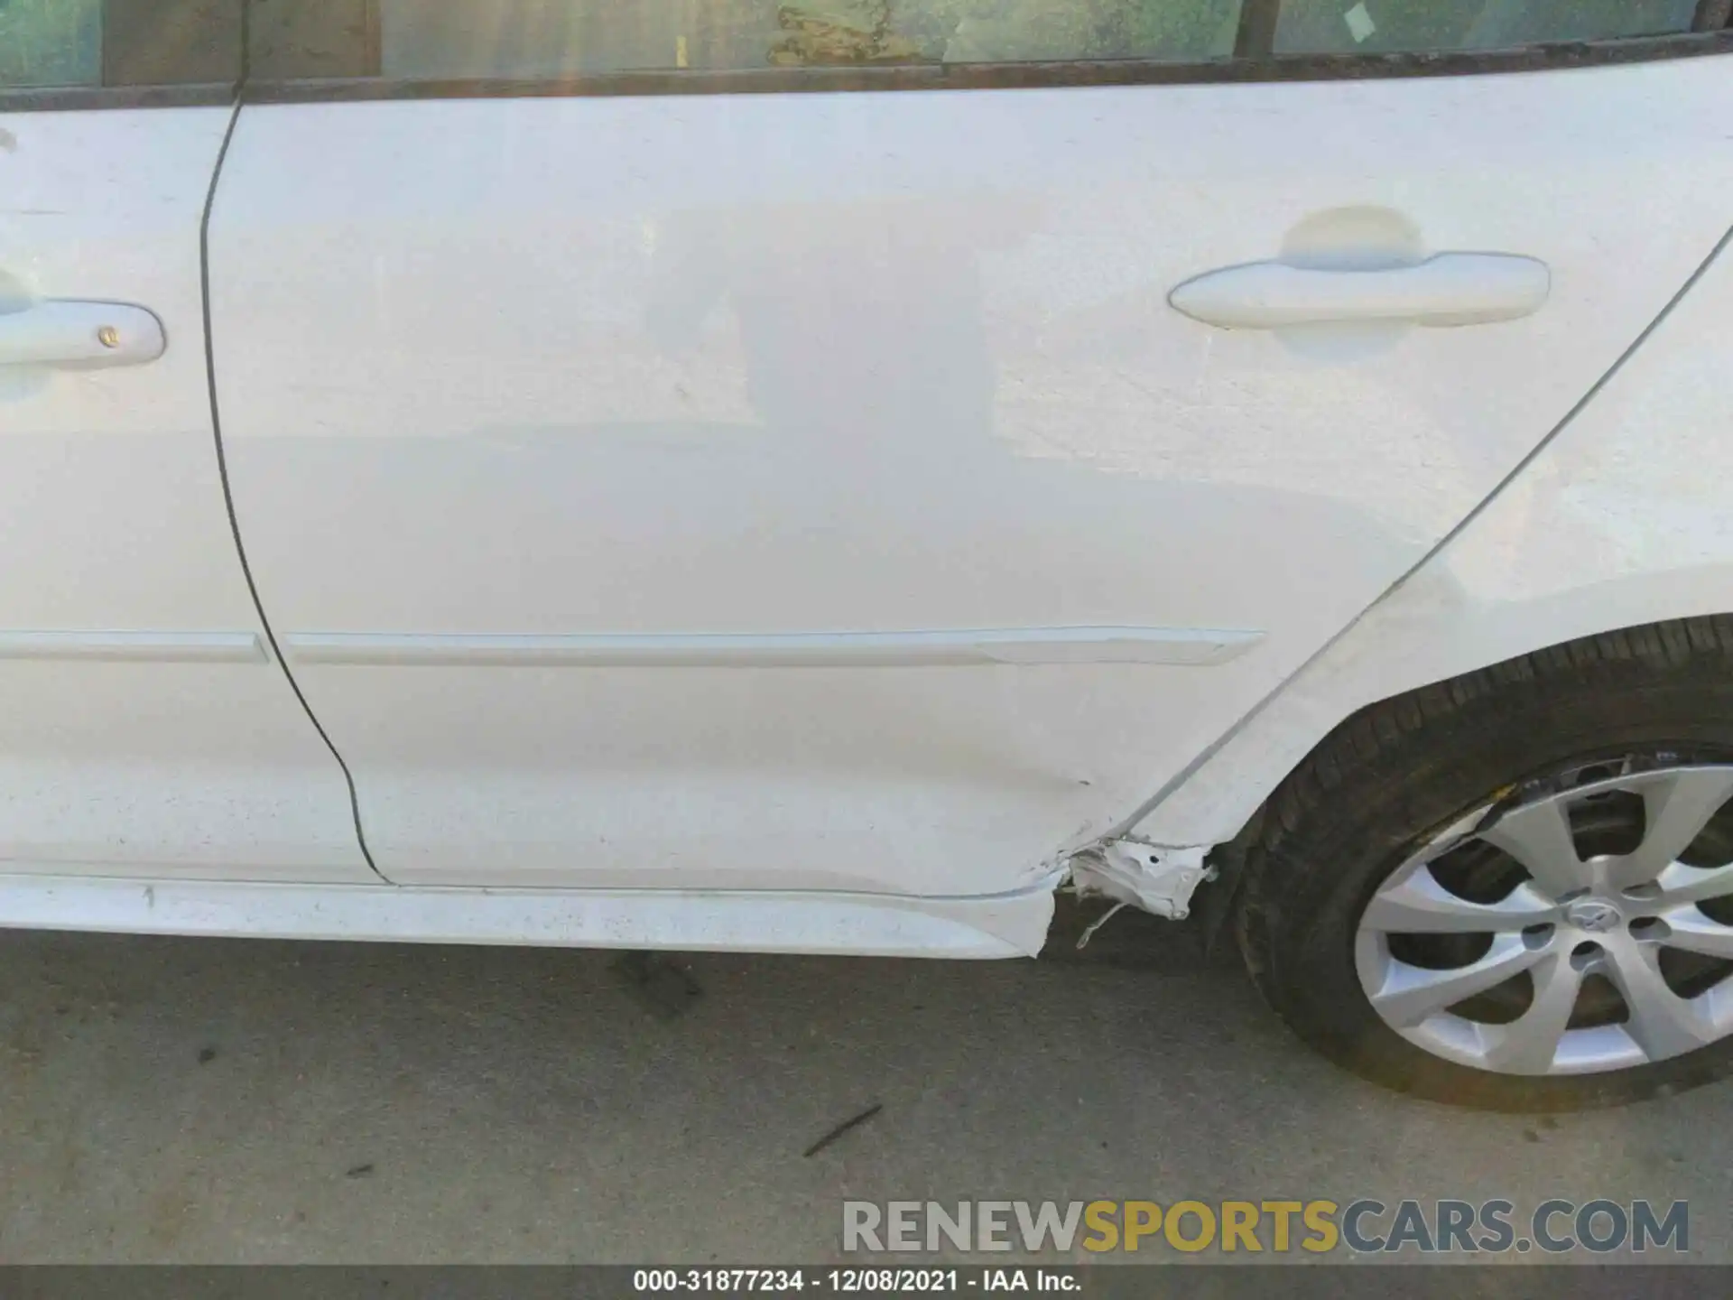
MULTIPOLYGON (((260 0, 274 3, 281 0, 260 0)), ((1210 59, 1239 0, 376 0, 388 78, 1210 59)))

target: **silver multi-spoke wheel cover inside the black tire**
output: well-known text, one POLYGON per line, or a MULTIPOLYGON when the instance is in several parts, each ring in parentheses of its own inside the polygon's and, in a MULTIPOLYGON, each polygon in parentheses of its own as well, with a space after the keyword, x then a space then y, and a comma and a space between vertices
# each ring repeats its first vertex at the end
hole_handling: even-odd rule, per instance
POLYGON ((1719 842, 1717 813, 1733 808, 1733 763, 1629 754, 1560 768, 1518 799, 1525 803, 1483 803, 1431 834, 1376 889, 1353 939, 1373 1012, 1433 1056, 1504 1075, 1632 1069, 1730 1035, 1733 976, 1702 991, 1693 983, 1695 997, 1679 997, 1660 964, 1671 948, 1702 965, 1707 981, 1719 974, 1707 959, 1733 962, 1733 924, 1716 920, 1728 913, 1709 901, 1733 903, 1733 861, 1679 861, 1698 837, 1710 842, 1712 822, 1719 842), (1489 816, 1490 808, 1503 813, 1489 816), (1483 822, 1490 825, 1480 830, 1483 822), (1496 903, 1454 889, 1485 898, 1515 874, 1511 861, 1477 851, 1461 860, 1461 879, 1457 858, 1445 870, 1442 855, 1477 839, 1529 875, 1496 903), (1601 853, 1603 844, 1632 848, 1601 853), (1485 952, 1461 964, 1466 936, 1477 936, 1466 952, 1485 952), (1591 976, 1596 995, 1584 1011, 1593 1014, 1572 1028, 1591 976), (1527 1007, 1523 983, 1532 986, 1527 1007), (1622 1017, 1606 985, 1624 1002, 1622 1017))

